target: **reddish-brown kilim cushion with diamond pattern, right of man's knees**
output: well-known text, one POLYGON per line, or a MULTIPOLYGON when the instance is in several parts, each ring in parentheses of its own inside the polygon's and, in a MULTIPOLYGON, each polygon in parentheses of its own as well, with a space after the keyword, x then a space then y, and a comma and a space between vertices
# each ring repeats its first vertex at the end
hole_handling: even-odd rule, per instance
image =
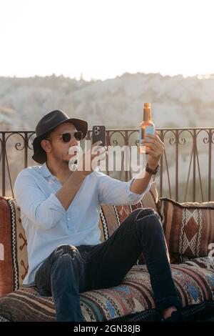
POLYGON ((208 256, 214 242, 214 202, 178 203, 158 201, 171 262, 208 256))

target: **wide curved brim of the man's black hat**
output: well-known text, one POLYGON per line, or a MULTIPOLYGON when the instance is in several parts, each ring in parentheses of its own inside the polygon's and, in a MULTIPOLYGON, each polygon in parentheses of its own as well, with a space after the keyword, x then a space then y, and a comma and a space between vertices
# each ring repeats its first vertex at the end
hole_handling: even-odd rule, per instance
POLYGON ((49 132, 51 132, 53 129, 63 124, 64 122, 71 122, 71 124, 73 124, 78 131, 83 132, 83 139, 85 139, 87 132, 88 132, 88 122, 86 122, 85 120, 76 119, 76 118, 69 118, 69 119, 63 120, 62 122, 59 122, 58 124, 54 125, 54 127, 50 128, 48 132, 45 132, 39 135, 39 137, 36 137, 34 139, 34 142, 33 142, 34 155, 32 156, 32 159, 34 159, 34 161, 40 164, 44 164, 44 162, 46 162, 47 156, 46 156, 46 152, 41 147, 41 140, 45 139, 46 134, 48 134, 49 132))

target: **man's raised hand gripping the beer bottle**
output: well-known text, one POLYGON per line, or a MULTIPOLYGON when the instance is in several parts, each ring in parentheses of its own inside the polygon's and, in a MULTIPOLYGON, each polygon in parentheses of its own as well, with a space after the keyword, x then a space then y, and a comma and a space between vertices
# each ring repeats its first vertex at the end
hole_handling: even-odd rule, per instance
POLYGON ((145 134, 148 139, 143 139, 141 144, 146 146, 146 152, 148 153, 148 167, 156 169, 158 163, 161 160, 164 151, 164 144, 158 136, 158 132, 155 134, 145 134))

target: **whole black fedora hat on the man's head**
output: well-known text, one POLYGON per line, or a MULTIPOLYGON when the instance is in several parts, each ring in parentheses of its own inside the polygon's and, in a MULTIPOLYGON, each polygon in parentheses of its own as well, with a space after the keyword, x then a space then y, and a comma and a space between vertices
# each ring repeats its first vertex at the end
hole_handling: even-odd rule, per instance
POLYGON ((87 122, 81 119, 69 118, 68 115, 60 109, 51 111, 41 118, 36 125, 36 138, 33 142, 34 155, 32 156, 34 161, 40 164, 46 162, 46 152, 41 147, 41 140, 45 139, 50 131, 54 130, 58 125, 63 124, 63 122, 71 122, 78 131, 83 132, 83 139, 86 137, 88 131, 87 122))

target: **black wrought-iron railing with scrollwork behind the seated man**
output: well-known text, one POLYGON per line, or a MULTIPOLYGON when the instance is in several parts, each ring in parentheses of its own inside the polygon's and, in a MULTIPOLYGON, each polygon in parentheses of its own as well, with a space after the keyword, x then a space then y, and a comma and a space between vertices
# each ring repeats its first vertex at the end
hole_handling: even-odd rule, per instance
MULTIPOLYGON (((178 202, 205 202, 214 199, 214 127, 157 129, 165 144, 161 171, 156 176, 159 197, 170 197, 178 202)), ((35 165, 31 159, 34 131, 0 131, 0 194, 14 196, 13 185, 17 174, 35 165)), ((91 139, 88 130, 86 139, 91 139)), ((109 146, 138 144, 138 129, 107 129, 109 146)), ((123 157, 120 172, 106 174, 128 181, 132 171, 124 170, 123 157)))

